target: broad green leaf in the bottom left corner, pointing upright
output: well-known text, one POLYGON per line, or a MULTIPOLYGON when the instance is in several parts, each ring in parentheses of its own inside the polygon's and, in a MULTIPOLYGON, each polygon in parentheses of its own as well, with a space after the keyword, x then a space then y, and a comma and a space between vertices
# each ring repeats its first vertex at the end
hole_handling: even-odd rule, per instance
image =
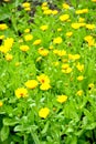
POLYGON ((9 132, 10 132, 10 131, 9 131, 9 126, 3 126, 3 127, 1 128, 1 141, 2 141, 2 142, 8 138, 9 132))

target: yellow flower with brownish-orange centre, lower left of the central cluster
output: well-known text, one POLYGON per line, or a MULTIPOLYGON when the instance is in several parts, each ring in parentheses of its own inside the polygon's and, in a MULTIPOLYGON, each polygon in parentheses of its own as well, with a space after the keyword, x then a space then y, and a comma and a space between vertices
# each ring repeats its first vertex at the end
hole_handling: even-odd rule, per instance
POLYGON ((18 99, 28 96, 28 90, 24 88, 18 88, 14 93, 18 99))

